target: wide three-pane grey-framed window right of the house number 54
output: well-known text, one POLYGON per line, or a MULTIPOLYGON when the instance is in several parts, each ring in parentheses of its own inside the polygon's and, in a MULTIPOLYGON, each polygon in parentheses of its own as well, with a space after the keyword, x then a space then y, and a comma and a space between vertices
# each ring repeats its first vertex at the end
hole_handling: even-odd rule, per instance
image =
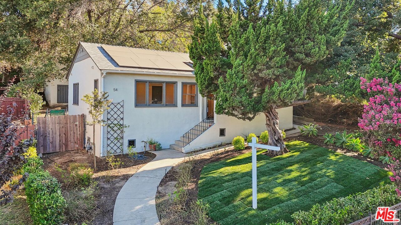
POLYGON ((135 81, 135 106, 177 106, 177 83, 165 81, 135 81))

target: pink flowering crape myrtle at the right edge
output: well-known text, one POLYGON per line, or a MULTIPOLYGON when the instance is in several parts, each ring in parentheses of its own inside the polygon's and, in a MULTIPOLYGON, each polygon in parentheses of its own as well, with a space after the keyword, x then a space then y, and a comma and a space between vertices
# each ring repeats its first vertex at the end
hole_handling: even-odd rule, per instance
POLYGON ((366 90, 369 102, 364 106, 358 126, 372 149, 374 157, 388 157, 390 179, 401 195, 401 84, 392 84, 387 78, 360 78, 360 88, 366 90))

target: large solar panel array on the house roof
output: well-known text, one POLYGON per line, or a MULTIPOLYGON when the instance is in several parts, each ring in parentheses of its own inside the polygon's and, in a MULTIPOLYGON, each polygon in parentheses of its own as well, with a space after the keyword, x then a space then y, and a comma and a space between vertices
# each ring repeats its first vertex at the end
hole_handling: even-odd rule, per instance
POLYGON ((143 48, 101 45, 119 66, 193 71, 188 62, 189 55, 143 48))

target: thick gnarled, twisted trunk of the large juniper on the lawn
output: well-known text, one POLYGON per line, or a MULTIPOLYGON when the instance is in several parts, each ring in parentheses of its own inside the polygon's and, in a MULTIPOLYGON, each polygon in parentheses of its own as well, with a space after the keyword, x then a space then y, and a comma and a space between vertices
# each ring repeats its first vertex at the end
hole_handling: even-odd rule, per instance
POLYGON ((288 153, 284 144, 282 131, 278 128, 278 113, 275 105, 270 105, 267 111, 263 112, 266 116, 266 129, 269 133, 268 145, 280 147, 280 151, 269 150, 269 155, 283 155, 288 153))

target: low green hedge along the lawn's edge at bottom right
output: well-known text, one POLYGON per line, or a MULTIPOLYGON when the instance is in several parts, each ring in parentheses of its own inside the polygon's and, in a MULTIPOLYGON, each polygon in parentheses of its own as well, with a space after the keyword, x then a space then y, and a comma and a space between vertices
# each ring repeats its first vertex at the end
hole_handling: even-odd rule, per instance
POLYGON ((292 218, 297 225, 342 225, 375 213, 379 206, 392 206, 400 201, 395 187, 384 185, 345 198, 333 199, 322 205, 316 204, 310 211, 293 213, 292 218))

